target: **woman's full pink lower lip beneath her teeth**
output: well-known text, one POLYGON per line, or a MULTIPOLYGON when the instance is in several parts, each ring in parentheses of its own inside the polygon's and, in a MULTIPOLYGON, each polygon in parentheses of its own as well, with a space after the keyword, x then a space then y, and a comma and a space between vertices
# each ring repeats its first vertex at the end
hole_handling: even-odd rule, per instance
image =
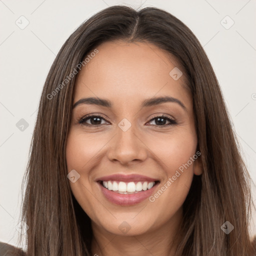
POLYGON ((120 194, 112 190, 108 190, 107 188, 103 187, 100 183, 98 183, 98 185, 100 186, 103 195, 110 202, 118 205, 133 205, 142 202, 143 200, 148 198, 153 193, 158 183, 152 186, 150 189, 147 189, 145 191, 142 190, 133 194, 120 194))

